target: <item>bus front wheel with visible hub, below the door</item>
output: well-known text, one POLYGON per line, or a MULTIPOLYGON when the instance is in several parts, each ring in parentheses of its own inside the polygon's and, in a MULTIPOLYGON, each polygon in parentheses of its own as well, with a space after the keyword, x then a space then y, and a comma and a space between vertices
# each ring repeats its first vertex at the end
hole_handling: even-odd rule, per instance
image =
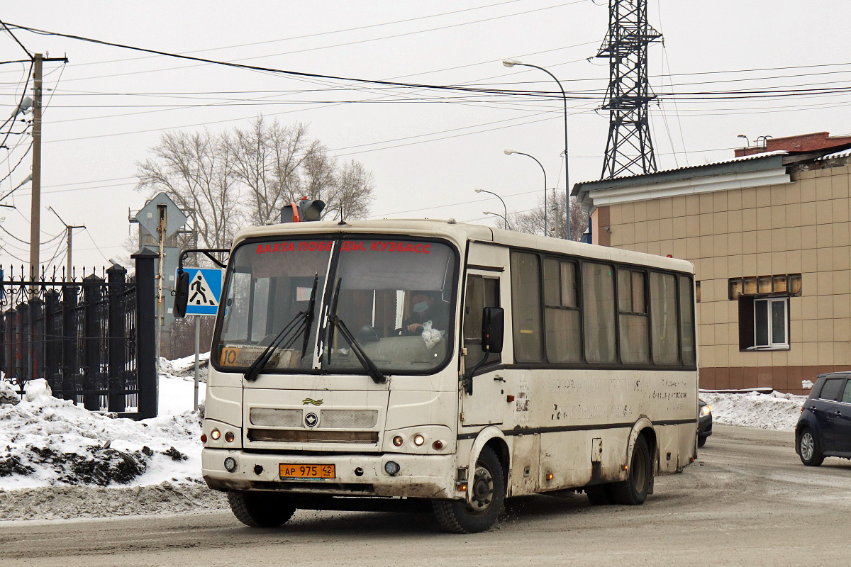
POLYGON ((484 447, 476 461, 476 472, 467 490, 471 502, 436 500, 432 502, 437 524, 456 534, 475 534, 494 524, 505 503, 505 473, 500 459, 490 447, 484 447))

